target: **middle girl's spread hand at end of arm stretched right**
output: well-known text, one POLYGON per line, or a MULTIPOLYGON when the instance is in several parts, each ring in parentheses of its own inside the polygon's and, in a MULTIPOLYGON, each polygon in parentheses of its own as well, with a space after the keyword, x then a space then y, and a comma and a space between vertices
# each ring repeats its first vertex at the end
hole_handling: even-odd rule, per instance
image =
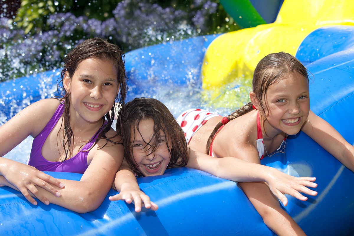
POLYGON ((317 192, 310 188, 316 188, 317 184, 313 183, 315 177, 294 177, 289 174, 285 174, 281 171, 275 170, 272 177, 267 184, 269 185, 270 191, 273 192, 274 196, 278 197, 284 206, 287 205, 287 198, 284 194, 289 194, 301 201, 306 201, 308 198, 303 196, 300 192, 310 196, 316 196, 317 192))

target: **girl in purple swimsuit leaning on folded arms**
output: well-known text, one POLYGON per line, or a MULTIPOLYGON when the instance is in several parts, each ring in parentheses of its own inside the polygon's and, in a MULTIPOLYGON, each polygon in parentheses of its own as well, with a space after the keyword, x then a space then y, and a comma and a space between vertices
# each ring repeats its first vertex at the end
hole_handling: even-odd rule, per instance
POLYGON ((101 205, 123 160, 111 126, 115 101, 125 103, 124 60, 118 46, 99 38, 67 54, 59 83, 63 97, 35 102, 0 127, 0 156, 34 137, 29 165, 0 157, 1 186, 21 191, 34 205, 33 197, 79 213, 101 205), (57 180, 42 171, 83 175, 80 181, 57 180))

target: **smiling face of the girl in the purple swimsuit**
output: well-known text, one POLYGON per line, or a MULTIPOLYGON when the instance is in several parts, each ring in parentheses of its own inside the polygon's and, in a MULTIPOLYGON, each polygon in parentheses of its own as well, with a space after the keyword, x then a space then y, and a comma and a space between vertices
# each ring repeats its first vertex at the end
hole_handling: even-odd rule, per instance
POLYGON ((80 62, 71 77, 66 72, 63 85, 70 94, 72 116, 79 116, 89 123, 101 121, 112 109, 119 92, 114 64, 95 57, 80 62))

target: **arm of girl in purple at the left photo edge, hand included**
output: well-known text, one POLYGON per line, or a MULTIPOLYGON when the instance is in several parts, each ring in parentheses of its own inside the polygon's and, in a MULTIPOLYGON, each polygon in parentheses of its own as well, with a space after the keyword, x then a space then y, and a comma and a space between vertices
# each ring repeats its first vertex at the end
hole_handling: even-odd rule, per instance
MULTIPOLYGON (((0 127, 0 156, 15 148, 28 136, 36 137, 50 120, 58 105, 59 102, 56 99, 41 100, 24 108, 2 125, 0 127)), ((0 157, 0 175, 8 180, 6 182, 8 185, 21 191, 25 198, 34 205, 37 202, 30 193, 43 203, 48 204, 48 199, 37 190, 35 185, 57 197, 60 196, 60 193, 52 185, 63 187, 59 180, 38 171, 36 168, 3 157, 0 157)))

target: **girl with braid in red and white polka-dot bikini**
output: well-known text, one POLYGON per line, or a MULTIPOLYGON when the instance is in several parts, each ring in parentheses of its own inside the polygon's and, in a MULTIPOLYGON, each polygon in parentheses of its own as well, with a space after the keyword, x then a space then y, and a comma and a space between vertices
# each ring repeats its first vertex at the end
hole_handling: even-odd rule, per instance
MULTIPOLYGON (((189 146, 215 157, 260 164, 285 153, 288 135, 303 131, 354 171, 354 147, 310 110, 307 69, 289 53, 265 56, 253 74, 251 102, 222 117, 200 109, 177 119, 189 146)), ((264 223, 277 235, 304 235, 264 182, 239 183, 264 223)))

